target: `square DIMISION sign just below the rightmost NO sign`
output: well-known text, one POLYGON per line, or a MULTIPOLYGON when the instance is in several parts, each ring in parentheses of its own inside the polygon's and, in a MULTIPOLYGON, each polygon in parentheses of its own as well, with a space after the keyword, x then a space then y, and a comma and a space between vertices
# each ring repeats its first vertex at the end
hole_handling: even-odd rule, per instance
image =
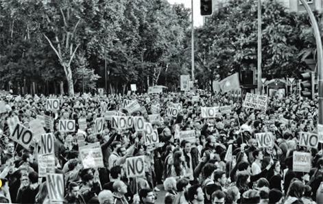
POLYGON ((311 170, 311 153, 294 151, 293 153, 293 171, 309 173, 311 170))

